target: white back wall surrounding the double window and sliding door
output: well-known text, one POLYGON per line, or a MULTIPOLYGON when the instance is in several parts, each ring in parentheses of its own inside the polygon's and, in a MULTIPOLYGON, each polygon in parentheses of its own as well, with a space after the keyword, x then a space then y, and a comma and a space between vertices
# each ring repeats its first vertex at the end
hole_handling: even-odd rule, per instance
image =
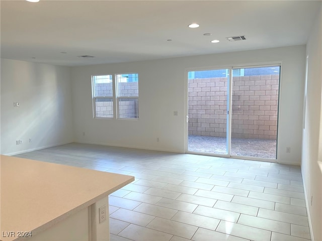
POLYGON ((305 46, 72 67, 76 142, 185 151, 187 68, 282 62, 278 159, 300 164, 305 46), (139 73, 139 120, 93 119, 91 75, 139 73), (177 110, 178 116, 173 112, 177 110), (83 135, 85 133, 85 135, 83 135), (159 142, 156 142, 156 138, 159 142), (291 147, 291 153, 286 153, 291 147))

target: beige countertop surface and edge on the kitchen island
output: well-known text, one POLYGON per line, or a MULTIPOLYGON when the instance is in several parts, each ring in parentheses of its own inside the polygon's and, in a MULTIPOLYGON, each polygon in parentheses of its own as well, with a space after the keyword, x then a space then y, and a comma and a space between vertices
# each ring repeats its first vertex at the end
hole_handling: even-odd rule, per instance
POLYGON ((0 228, 32 232, 49 228, 134 180, 133 176, 0 155, 0 228))

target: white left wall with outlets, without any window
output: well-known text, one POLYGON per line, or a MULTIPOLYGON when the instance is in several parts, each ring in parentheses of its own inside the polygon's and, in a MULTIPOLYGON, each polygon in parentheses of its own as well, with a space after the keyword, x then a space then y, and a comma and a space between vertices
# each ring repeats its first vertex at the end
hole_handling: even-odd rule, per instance
POLYGON ((70 68, 1 59, 1 154, 72 141, 70 68))

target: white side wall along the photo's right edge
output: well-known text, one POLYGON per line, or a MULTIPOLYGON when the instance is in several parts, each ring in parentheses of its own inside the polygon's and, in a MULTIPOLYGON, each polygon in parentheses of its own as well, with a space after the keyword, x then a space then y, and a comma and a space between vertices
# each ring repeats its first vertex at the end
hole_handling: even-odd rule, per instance
POLYGON ((301 165, 312 240, 322 240, 322 170, 317 164, 317 161, 322 162, 322 3, 320 6, 306 47, 307 98, 301 165))

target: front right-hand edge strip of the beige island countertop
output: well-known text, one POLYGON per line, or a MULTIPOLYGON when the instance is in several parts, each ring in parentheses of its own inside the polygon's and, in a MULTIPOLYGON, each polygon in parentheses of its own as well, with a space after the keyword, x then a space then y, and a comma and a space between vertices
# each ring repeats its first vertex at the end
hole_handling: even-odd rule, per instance
MULTIPOLYGON (((129 179, 128 181, 126 181, 126 182, 124 182, 124 183, 122 183, 122 184, 120 184, 120 185, 118 185, 118 186, 116 186, 116 187, 114 187, 114 188, 112 188, 112 189, 110 189, 110 190, 102 193, 101 195, 99 195, 99 196, 97 196, 97 197, 95 197, 95 198, 93 198, 93 199, 91 199, 91 200, 83 203, 82 205, 79 205, 79 206, 77 206, 77 207, 69 210, 68 212, 66 212, 66 213, 64 213, 64 214, 62 214, 62 215, 60 215, 60 216, 58 216, 58 217, 50 220, 49 222, 44 223, 40 227, 37 227, 34 230, 31 230, 32 235, 33 236, 34 235, 37 235, 38 233, 40 233, 40 232, 42 232, 42 231, 44 231, 44 230, 52 227, 56 223, 58 223, 58 222, 60 222, 60 221, 62 221, 64 219, 66 219, 67 217, 71 216, 72 214, 77 213, 78 211, 80 211, 80 210, 82 210, 84 208, 87 208, 87 207, 91 206, 92 204, 96 203, 97 201, 101 200, 104 197, 108 197, 109 194, 111 194, 111 193, 115 192, 116 190, 120 189, 121 187, 124 187, 127 184, 133 182, 134 181, 134 177, 133 176, 131 176, 131 177, 132 178, 129 179)), ((9 238, 8 240, 6 239, 6 241, 11 241, 11 240, 22 241, 22 240, 26 240, 27 238, 28 237, 17 237, 17 238, 14 238, 14 239, 10 239, 9 238)))

